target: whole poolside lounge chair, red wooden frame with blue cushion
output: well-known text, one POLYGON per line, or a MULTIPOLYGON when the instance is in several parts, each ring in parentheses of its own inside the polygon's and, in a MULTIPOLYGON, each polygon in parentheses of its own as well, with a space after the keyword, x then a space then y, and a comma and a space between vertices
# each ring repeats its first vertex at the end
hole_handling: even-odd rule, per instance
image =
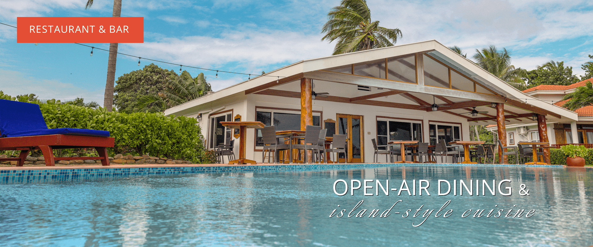
POLYGON ((20 150, 19 158, 0 158, 0 161, 18 161, 23 166, 31 150, 42 150, 46 166, 55 166, 55 161, 75 159, 100 159, 109 165, 107 147, 113 147, 115 139, 109 131, 74 128, 47 129, 37 104, 0 100, 0 150, 20 150), (93 147, 100 157, 54 157, 53 149, 93 147))

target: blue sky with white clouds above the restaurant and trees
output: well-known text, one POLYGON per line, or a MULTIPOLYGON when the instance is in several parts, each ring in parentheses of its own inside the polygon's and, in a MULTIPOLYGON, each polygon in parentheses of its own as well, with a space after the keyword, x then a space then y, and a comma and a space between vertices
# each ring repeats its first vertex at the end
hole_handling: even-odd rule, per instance
MULTIPOLYGON (((120 44, 119 52, 200 68, 261 73, 304 59, 329 56, 321 41, 326 14, 337 0, 123 0, 122 17, 144 17, 144 43, 120 44)), ((108 17, 113 1, 0 0, 0 22, 17 17, 108 17)), ((582 75, 593 54, 593 1, 392 1, 368 0, 372 19, 400 28, 397 44, 437 40, 468 53, 489 46, 512 52, 513 64, 535 69, 549 60, 565 61, 582 75)), ((109 49, 109 44, 85 43, 109 49)), ((16 28, 0 25, 0 91, 40 98, 103 102, 107 52, 69 43, 17 43, 16 28)), ((117 57, 117 77, 149 62, 117 57)), ((179 67, 157 63, 178 72, 179 67)), ((204 72, 218 90, 247 76, 204 72)))

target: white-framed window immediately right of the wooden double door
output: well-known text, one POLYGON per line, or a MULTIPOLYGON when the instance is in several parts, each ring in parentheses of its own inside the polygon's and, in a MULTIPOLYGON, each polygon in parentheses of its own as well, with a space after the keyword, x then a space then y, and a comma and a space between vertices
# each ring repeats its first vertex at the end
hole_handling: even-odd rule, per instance
POLYGON ((422 122, 378 118, 377 145, 387 145, 392 140, 417 140, 422 142, 422 122))

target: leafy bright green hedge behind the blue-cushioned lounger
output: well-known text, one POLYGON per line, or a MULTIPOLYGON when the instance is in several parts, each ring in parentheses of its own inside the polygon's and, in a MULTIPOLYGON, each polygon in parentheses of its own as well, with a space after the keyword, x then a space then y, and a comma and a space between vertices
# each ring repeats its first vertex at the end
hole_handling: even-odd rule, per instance
POLYGON ((195 118, 162 113, 117 113, 66 104, 39 104, 50 129, 107 130, 115 137, 110 154, 137 153, 211 163, 195 118))

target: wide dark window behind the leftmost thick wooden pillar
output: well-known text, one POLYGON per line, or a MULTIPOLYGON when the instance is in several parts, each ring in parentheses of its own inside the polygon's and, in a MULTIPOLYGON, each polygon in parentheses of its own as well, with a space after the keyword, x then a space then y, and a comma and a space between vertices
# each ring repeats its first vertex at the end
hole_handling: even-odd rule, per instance
MULTIPOLYGON (((301 129, 300 110, 268 110, 258 108, 256 111, 256 121, 262 122, 264 126, 276 126, 276 131, 301 129)), ((320 122, 321 113, 313 113, 313 125, 321 126, 320 122)), ((256 129, 256 146, 263 146, 262 131, 259 129, 256 129)))

